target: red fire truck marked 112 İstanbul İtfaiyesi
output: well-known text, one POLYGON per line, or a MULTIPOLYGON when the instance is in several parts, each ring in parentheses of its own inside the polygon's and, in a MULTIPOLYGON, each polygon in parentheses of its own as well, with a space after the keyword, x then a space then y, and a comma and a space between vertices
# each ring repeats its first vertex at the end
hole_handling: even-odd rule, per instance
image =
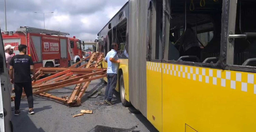
POLYGON ((14 55, 19 53, 20 44, 27 45, 27 54, 32 57, 35 68, 68 67, 82 58, 81 41, 68 38, 66 32, 34 27, 20 27, 16 31, 2 32, 4 46, 15 46, 14 55))

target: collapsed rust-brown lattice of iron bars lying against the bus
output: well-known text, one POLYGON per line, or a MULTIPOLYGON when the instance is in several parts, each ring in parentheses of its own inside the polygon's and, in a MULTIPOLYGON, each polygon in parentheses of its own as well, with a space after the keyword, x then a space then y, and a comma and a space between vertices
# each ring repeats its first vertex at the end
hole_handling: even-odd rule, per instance
MULTIPOLYGON (((92 80, 106 77, 106 69, 101 68, 103 53, 92 53, 68 68, 42 67, 36 73, 37 79, 44 74, 53 74, 46 78, 32 82, 33 94, 50 98, 69 106, 81 105, 81 97, 92 80), (90 60, 81 64, 83 61, 90 60), (46 93, 47 91, 61 89, 67 86, 76 85, 70 97, 57 97, 46 93)), ((22 97, 26 97, 23 92, 22 97)), ((12 100, 15 96, 12 96, 12 100)))

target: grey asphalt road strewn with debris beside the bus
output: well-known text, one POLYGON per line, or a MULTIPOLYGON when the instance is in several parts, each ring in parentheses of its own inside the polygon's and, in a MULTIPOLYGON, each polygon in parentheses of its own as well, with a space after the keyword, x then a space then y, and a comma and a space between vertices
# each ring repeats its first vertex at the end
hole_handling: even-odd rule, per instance
MULTIPOLYGON (((14 116, 12 111, 12 122, 14 132, 88 132, 96 125, 116 127, 116 128, 132 128, 138 126, 135 130, 140 132, 158 132, 154 126, 140 113, 131 113, 129 109, 123 107, 120 103, 118 93, 115 93, 115 105, 109 106, 102 104, 104 97, 104 89, 106 85, 101 80, 92 81, 84 94, 79 107, 68 107, 61 103, 34 96, 34 111, 35 115, 29 115, 27 100, 21 101, 21 114, 14 116), (94 91, 98 91, 92 97, 87 98, 94 91), (85 114, 79 117, 72 115, 79 114, 81 109, 93 110, 93 114, 85 114)), ((61 97, 69 96, 74 86, 66 87, 60 90, 54 90, 49 93, 61 97)), ((14 102, 12 102, 14 106, 14 102)))

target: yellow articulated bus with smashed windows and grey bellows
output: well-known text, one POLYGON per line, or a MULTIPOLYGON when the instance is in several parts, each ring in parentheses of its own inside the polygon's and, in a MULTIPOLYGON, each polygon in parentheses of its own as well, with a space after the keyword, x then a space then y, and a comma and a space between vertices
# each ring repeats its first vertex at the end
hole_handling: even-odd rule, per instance
POLYGON ((255 23, 255 0, 129 0, 99 49, 119 45, 122 104, 158 131, 255 132, 255 23))

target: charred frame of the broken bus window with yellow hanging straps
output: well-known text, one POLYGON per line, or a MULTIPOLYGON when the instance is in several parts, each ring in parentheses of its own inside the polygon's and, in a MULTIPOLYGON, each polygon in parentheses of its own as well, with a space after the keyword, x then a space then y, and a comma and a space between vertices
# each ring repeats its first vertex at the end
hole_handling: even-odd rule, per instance
MULTIPOLYGON (((167 6, 167 4, 169 3, 168 2, 169 0, 163 0, 163 13, 166 12, 166 10, 164 9, 168 9, 168 8, 171 8, 171 7, 165 7, 165 5, 167 6), (167 3, 164 5, 164 3, 167 3)), ((207 67, 207 68, 216 68, 216 69, 225 69, 225 66, 226 66, 226 63, 225 63, 225 55, 226 53, 225 52, 221 52, 223 50, 226 50, 225 47, 227 47, 227 36, 224 36, 224 34, 227 34, 227 29, 226 28, 222 28, 223 26, 227 27, 228 23, 228 13, 225 13, 226 11, 228 11, 228 5, 229 3, 229 0, 223 0, 223 3, 222 3, 222 18, 221 18, 221 40, 220 40, 220 55, 219 55, 219 60, 216 64, 210 64, 210 63, 200 63, 200 62, 189 62, 189 61, 174 61, 174 60, 165 60, 164 59, 164 51, 165 51, 165 48, 167 46, 165 46, 166 44, 169 45, 169 42, 167 40, 169 40, 169 36, 167 35, 164 35, 163 38, 162 38, 162 60, 161 62, 163 63, 170 63, 170 64, 179 64, 179 65, 190 65, 190 66, 197 66, 197 67, 207 67)), ((186 4, 186 1, 185 1, 185 4, 186 4)), ((169 6, 171 6, 169 4, 169 6)), ((166 20, 166 17, 169 17, 167 15, 169 15, 168 13, 170 13, 169 11, 167 13, 164 13, 163 14, 163 34, 166 34, 166 32, 169 32, 170 33, 170 30, 167 29, 168 26, 164 26, 166 24, 169 24, 170 25, 170 22, 171 20, 169 21, 169 23, 166 23, 165 20, 166 20)), ((186 14, 186 12, 185 12, 186 14)), ((186 22, 186 19, 185 19, 185 22, 186 22)), ((186 24, 185 24, 186 25, 186 24)), ((186 28, 186 27, 185 27, 186 28)), ((169 35, 168 33, 168 35, 169 35)))

